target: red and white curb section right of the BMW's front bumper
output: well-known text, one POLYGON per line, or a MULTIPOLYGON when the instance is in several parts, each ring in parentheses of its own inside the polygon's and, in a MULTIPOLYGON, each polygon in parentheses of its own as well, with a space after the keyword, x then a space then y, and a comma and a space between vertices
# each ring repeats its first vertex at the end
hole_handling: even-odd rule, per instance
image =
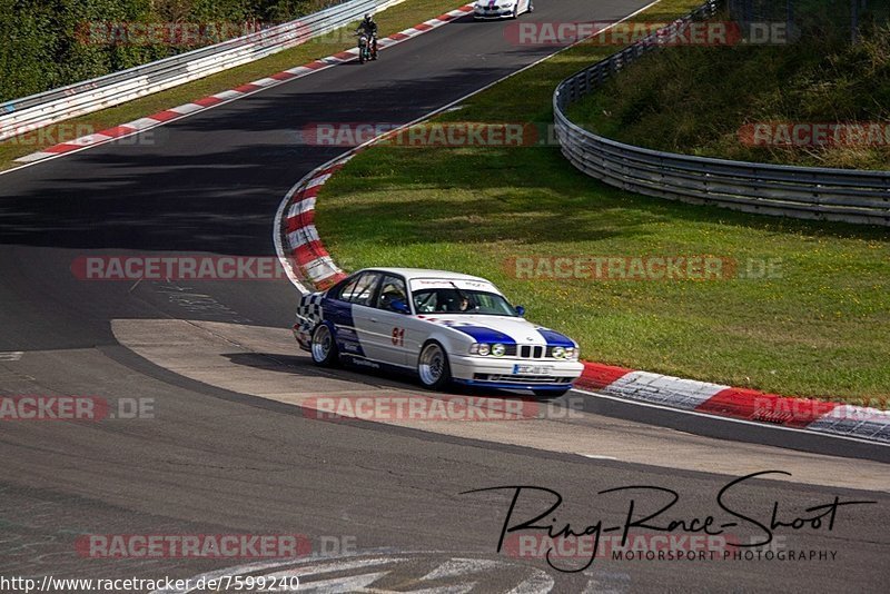
POLYGON ((576 388, 656 406, 890 445, 890 412, 584 363, 576 388))

